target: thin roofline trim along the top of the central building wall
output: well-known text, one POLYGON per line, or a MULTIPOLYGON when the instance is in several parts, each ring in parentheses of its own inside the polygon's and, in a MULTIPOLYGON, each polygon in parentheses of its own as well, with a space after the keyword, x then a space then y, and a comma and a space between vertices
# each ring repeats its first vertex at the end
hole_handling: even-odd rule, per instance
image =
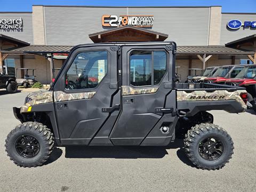
POLYGON ((32 5, 44 7, 98 7, 98 8, 209 8, 209 7, 222 7, 221 5, 212 6, 93 6, 93 5, 32 5))

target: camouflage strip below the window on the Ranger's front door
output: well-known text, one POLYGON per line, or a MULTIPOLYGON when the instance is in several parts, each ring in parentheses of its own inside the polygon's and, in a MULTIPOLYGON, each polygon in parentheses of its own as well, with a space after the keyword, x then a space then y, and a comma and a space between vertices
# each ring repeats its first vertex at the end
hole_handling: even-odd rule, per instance
POLYGON ((70 101, 79 99, 91 99, 96 92, 84 92, 84 93, 65 93, 63 91, 54 91, 54 102, 70 101))

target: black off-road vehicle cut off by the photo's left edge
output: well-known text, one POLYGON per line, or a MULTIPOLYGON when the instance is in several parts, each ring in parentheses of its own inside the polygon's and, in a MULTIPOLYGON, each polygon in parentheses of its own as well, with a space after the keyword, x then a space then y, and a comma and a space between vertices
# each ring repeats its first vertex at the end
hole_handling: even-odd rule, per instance
POLYGON ((0 73, 0 89, 6 89, 8 93, 16 93, 18 86, 15 80, 16 78, 13 75, 0 73))

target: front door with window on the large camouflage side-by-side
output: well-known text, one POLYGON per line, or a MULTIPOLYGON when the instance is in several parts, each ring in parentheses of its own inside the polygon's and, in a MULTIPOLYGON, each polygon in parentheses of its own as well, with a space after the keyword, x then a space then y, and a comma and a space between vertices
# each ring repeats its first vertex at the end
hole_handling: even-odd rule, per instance
POLYGON ((89 145, 108 122, 102 109, 119 104, 113 101, 116 94, 117 51, 91 46, 72 52, 53 93, 61 142, 89 145))

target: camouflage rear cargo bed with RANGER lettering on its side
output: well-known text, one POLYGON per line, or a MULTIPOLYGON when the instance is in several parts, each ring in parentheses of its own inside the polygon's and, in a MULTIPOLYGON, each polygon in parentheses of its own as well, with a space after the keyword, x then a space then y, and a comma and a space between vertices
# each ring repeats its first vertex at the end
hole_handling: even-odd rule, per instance
POLYGON ((243 87, 209 83, 177 83, 177 108, 179 114, 193 116, 199 111, 226 110, 243 112, 247 106, 241 98, 243 87))

